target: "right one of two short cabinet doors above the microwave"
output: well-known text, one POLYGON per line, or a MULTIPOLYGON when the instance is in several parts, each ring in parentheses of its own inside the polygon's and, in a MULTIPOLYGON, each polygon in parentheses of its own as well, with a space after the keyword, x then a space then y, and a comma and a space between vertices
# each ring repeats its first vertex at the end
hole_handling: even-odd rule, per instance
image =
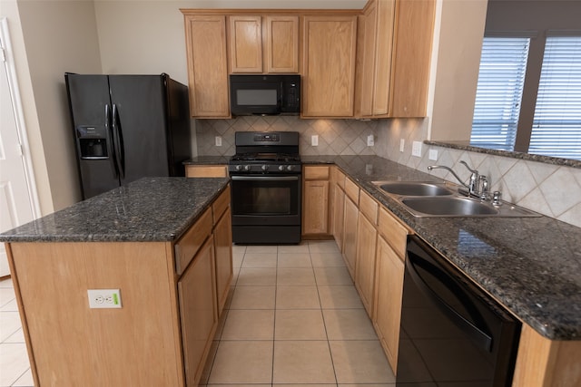
POLYGON ((266 73, 299 73, 299 16, 271 15, 264 19, 266 73))

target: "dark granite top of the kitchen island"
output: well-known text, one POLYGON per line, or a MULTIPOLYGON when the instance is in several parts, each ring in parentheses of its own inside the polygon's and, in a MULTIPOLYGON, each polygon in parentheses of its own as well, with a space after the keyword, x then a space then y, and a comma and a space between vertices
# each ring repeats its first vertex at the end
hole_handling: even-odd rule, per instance
POLYGON ((0 234, 0 242, 172 241, 230 179, 143 178, 0 234))

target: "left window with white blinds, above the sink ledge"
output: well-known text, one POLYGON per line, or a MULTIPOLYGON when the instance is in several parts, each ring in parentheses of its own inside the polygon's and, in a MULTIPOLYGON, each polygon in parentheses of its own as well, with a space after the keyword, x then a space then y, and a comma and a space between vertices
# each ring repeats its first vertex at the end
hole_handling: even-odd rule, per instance
POLYGON ((470 144, 514 150, 527 71, 528 37, 485 37, 470 144))

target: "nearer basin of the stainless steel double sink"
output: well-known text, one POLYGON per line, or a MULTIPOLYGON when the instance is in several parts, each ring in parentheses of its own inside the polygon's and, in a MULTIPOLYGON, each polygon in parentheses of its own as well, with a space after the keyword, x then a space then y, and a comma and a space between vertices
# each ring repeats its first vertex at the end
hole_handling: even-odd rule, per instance
POLYGON ((473 198, 428 197, 402 198, 415 216, 474 217, 498 215, 498 209, 473 198))

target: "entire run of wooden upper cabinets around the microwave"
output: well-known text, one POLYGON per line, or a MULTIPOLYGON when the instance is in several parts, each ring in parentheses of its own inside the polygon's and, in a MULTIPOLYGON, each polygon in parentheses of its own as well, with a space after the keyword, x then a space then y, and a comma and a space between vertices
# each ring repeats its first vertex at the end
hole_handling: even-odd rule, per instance
POLYGON ((302 118, 425 117, 435 5, 182 9, 192 116, 231 117, 231 73, 299 73, 302 118))

